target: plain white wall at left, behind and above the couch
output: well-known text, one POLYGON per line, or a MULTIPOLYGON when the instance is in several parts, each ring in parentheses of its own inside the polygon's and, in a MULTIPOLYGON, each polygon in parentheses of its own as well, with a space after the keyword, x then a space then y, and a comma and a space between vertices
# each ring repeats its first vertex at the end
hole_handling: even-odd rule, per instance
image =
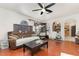
POLYGON ((8 9, 0 8, 0 46, 2 49, 8 48, 7 32, 13 31, 13 24, 19 24, 22 20, 26 20, 29 25, 33 25, 33 22, 29 22, 28 17, 18 14, 8 9), (6 42, 6 47, 3 43, 6 42))

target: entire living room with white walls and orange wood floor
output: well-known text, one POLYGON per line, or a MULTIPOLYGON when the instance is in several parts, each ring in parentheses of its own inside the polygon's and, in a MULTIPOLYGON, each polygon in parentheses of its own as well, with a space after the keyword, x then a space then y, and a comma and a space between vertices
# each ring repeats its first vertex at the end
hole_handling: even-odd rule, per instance
POLYGON ((78 6, 78 3, 1 3, 0 56, 78 56, 78 6), (33 46, 38 45, 33 45, 34 40, 42 46, 37 53, 32 53, 33 46), (30 48, 26 47, 25 43, 30 42, 33 43, 30 48))

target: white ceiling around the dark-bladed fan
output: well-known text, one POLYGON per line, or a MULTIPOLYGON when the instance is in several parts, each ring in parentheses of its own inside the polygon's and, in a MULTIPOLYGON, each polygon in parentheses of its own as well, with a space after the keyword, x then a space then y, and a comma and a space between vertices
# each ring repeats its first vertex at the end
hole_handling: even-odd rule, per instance
MULTIPOLYGON (((50 3, 45 3, 45 5, 48 4, 50 3)), ((35 11, 35 12, 32 11, 34 9, 40 8, 36 3, 9 3, 9 4, 5 3, 0 4, 0 8, 13 10, 23 15, 26 16, 28 15, 35 19, 40 20, 50 20, 61 16, 79 13, 79 4, 77 3, 56 3, 54 6, 49 8, 50 10, 53 11, 52 13, 50 14, 44 13, 43 15, 40 15, 41 11, 35 11)))

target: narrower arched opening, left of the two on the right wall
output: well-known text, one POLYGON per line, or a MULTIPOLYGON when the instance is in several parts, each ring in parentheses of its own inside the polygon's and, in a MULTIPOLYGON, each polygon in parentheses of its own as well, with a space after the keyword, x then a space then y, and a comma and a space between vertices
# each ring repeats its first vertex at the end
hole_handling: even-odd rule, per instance
POLYGON ((61 40, 61 22, 55 20, 52 24, 53 39, 61 40))

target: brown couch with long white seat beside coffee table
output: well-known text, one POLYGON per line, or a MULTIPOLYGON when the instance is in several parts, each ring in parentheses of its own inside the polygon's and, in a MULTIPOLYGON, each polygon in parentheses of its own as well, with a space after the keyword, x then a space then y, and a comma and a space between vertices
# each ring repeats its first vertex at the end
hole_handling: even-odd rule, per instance
POLYGON ((24 43, 28 43, 32 40, 40 39, 39 36, 34 36, 32 34, 34 33, 8 32, 9 48, 16 49, 18 47, 21 47, 24 43))

